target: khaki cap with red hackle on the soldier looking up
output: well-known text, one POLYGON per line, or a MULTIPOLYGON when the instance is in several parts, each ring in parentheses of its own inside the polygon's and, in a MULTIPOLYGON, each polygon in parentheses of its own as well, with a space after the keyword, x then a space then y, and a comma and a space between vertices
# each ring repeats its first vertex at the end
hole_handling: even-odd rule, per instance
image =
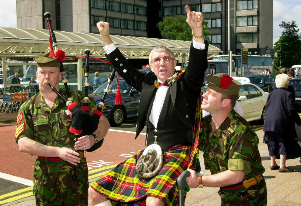
POLYGON ((239 93, 241 83, 229 75, 213 74, 206 77, 208 87, 216 92, 228 95, 239 93))

